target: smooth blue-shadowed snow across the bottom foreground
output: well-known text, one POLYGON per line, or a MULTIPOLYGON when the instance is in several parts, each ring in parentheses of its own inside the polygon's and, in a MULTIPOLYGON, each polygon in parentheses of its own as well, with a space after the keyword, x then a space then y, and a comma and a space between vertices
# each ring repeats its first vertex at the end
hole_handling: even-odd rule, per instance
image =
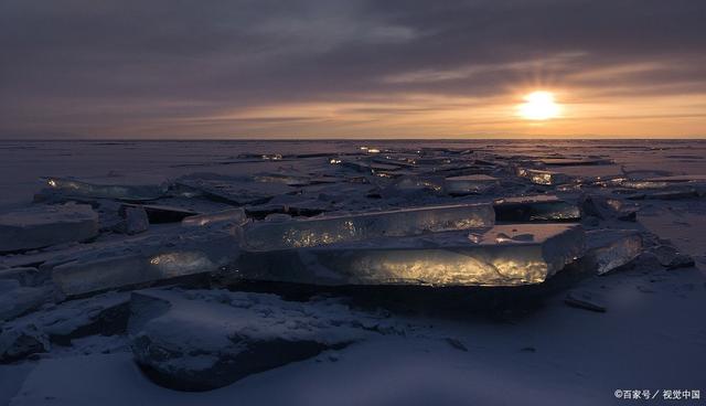
POLYGON ((567 308, 559 296, 542 312, 507 322, 468 313, 420 319, 432 324, 424 335, 381 336, 206 393, 153 385, 129 353, 42 360, 10 404, 596 405, 616 402, 617 388, 703 388, 704 331, 693 309, 706 300, 696 274, 650 282, 655 276, 634 271, 582 284, 605 291, 607 313, 567 308), (685 290, 688 282, 702 293, 685 290), (655 292, 635 289, 642 285, 655 292))

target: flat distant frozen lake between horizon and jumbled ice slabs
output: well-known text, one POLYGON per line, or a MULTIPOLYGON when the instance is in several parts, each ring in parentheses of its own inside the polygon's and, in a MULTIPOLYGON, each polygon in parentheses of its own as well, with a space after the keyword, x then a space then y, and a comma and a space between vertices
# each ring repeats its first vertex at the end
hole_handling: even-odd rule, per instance
POLYGON ((195 171, 247 173, 272 167, 229 163, 242 153, 333 154, 356 152, 361 146, 460 148, 532 158, 601 156, 613 159, 625 171, 706 173, 705 140, 0 141, 0 207, 31 200, 42 184, 41 177, 158 182, 195 171))

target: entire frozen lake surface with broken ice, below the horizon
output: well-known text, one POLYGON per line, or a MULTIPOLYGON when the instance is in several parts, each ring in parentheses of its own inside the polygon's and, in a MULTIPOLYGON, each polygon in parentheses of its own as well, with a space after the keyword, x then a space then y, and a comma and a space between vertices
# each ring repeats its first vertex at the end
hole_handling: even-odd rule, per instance
POLYGON ((1 141, 0 404, 704 393, 704 157, 686 140, 1 141))

